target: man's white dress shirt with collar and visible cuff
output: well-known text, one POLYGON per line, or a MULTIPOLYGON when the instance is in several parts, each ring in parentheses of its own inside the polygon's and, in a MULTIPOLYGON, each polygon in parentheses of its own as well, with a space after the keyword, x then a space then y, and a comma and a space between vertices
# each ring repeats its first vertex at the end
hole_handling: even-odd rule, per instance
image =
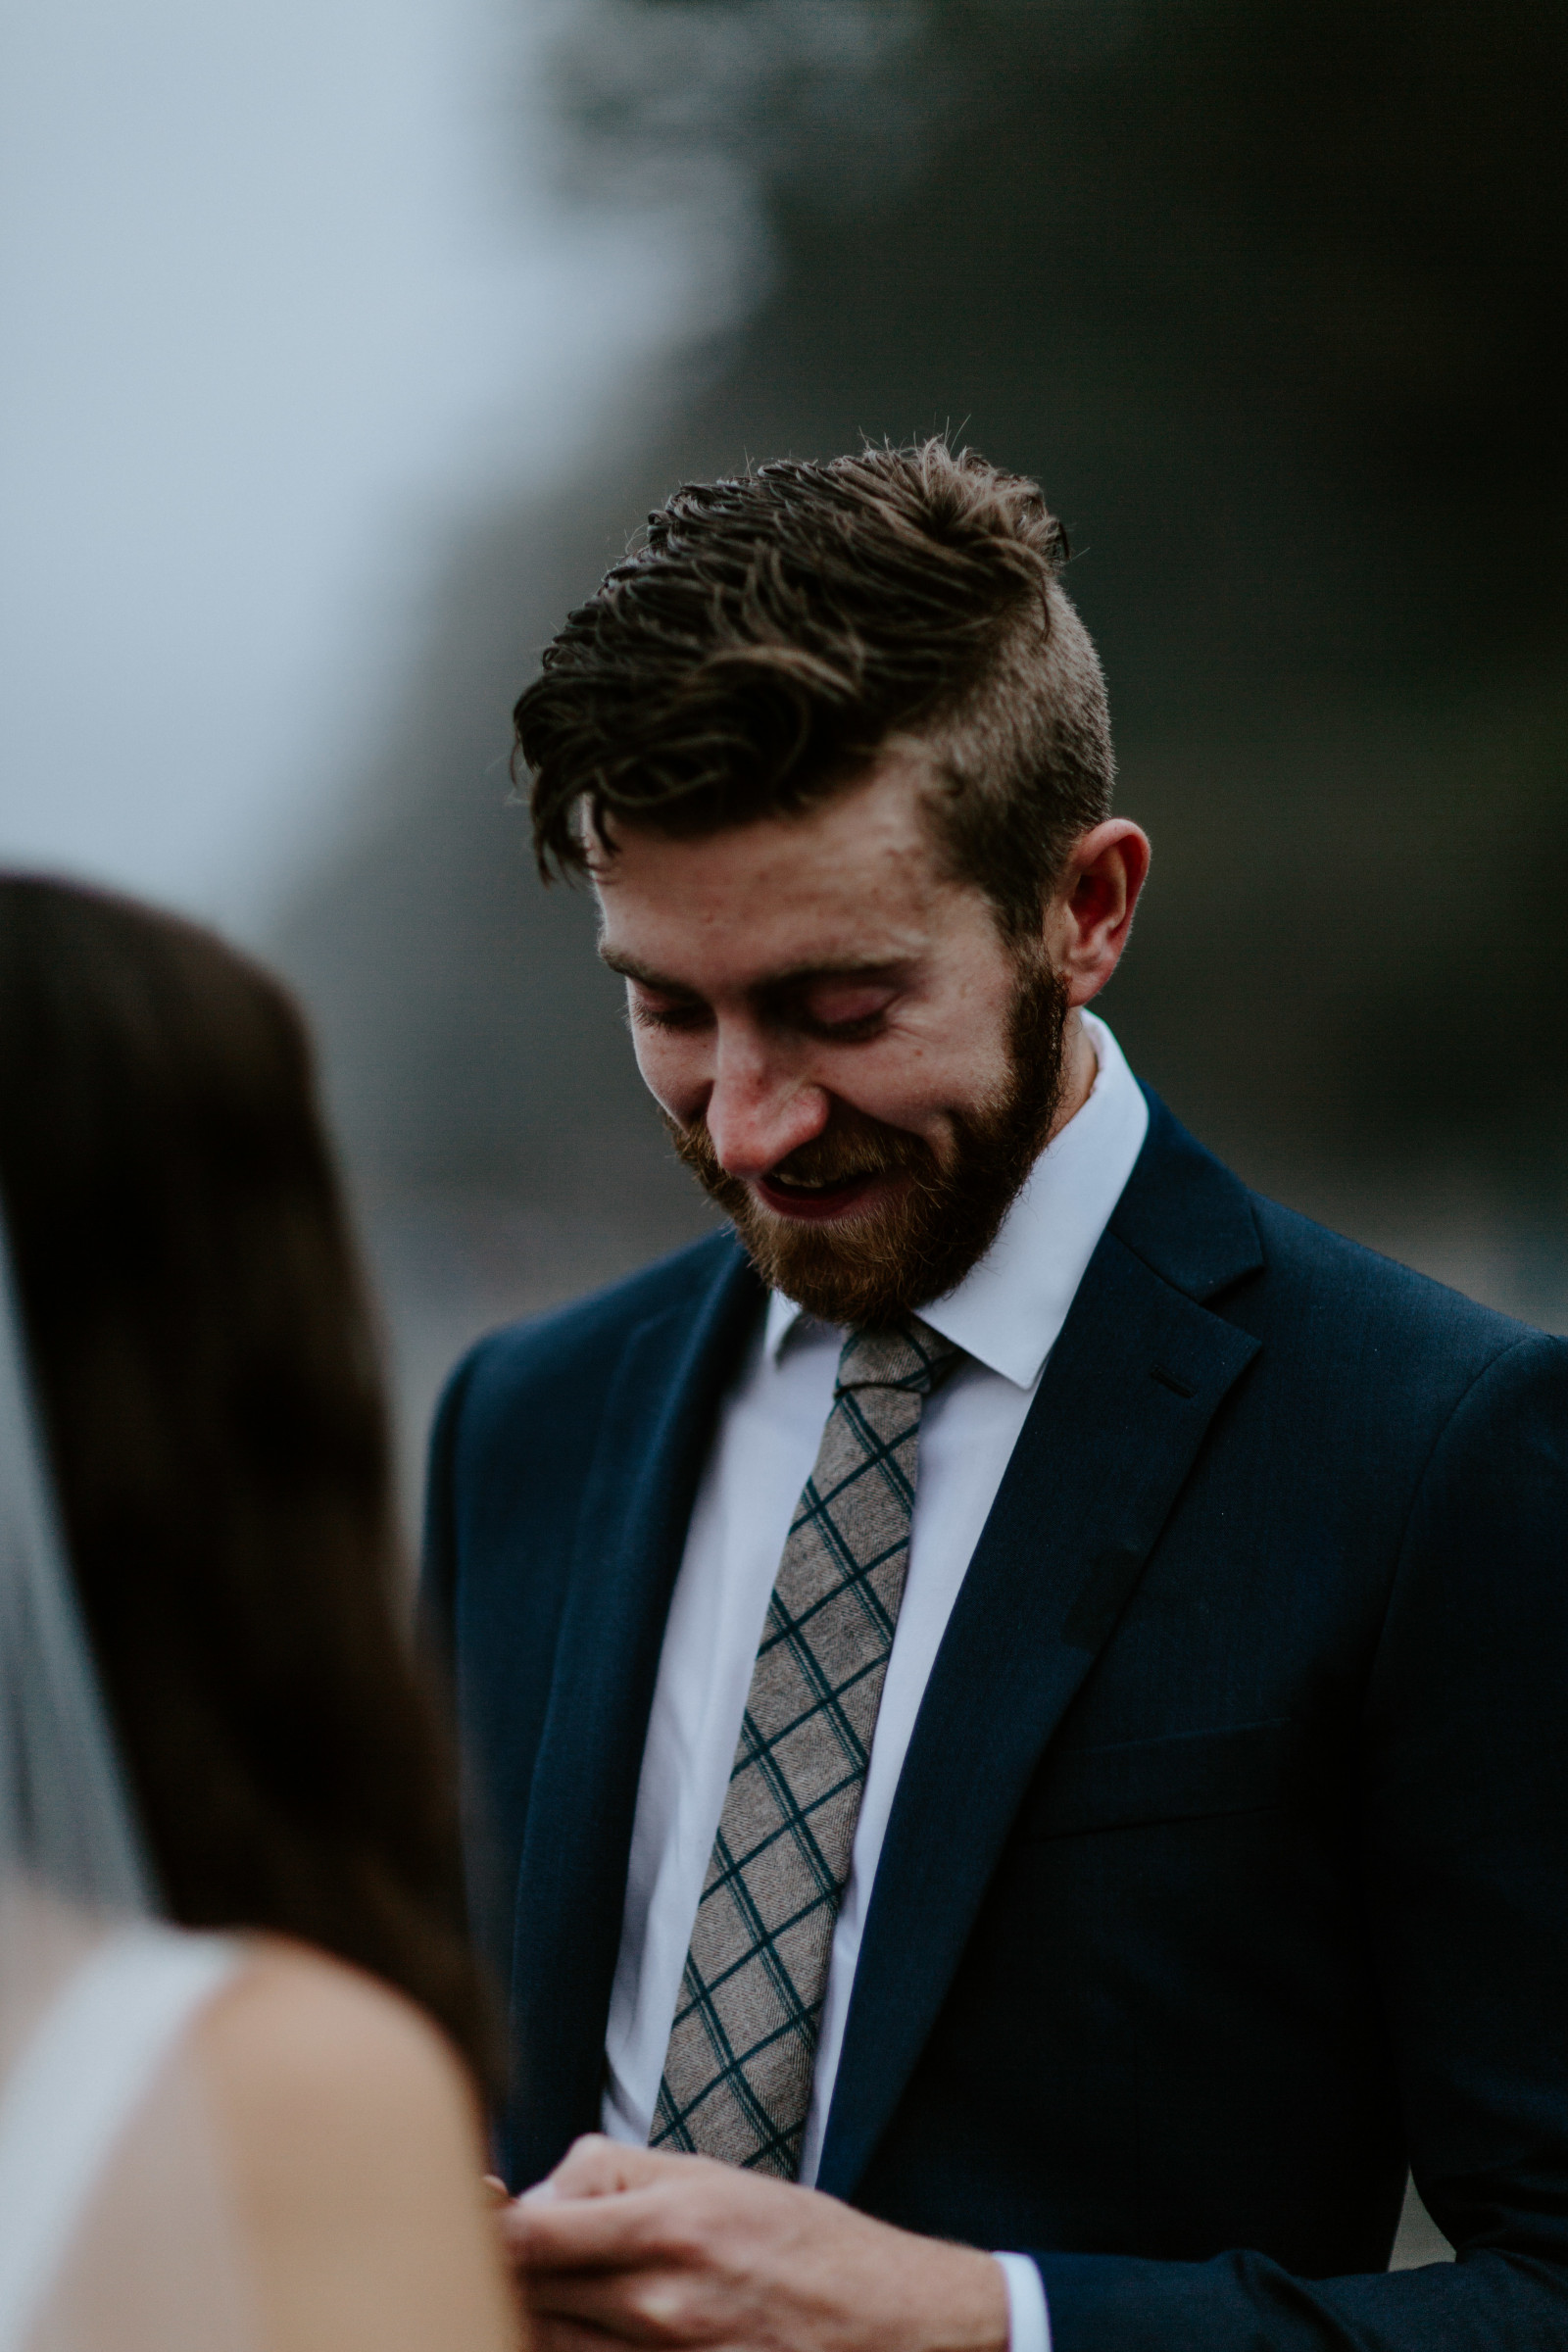
MULTIPOLYGON (((924 1322, 964 1350, 926 1402, 910 1569, 839 1903, 799 2178, 823 2154, 849 1994, 914 1717, 969 1559, 1077 1287, 1143 1150, 1150 1110, 1093 1014, 1088 1101, 1034 1162, 1001 1232, 924 1322)), ((816 1463, 844 1331, 773 1291, 719 1409, 682 1555, 649 1736, 604 2034, 602 2129, 646 2145, 696 1905, 724 1811, 769 1595, 816 1463)), ((1046 2352, 1039 2272, 1006 2256, 1013 2352, 1046 2352)))

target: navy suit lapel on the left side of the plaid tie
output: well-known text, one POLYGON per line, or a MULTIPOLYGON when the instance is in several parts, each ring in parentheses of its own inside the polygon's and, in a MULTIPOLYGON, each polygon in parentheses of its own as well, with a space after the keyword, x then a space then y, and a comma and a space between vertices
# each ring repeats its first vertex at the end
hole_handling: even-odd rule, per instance
POLYGON ((670 1590, 724 1383, 759 1308, 738 1249, 691 1305, 637 1324, 583 1489, 512 1938, 522 2185, 597 2124, 642 1743, 670 1590))

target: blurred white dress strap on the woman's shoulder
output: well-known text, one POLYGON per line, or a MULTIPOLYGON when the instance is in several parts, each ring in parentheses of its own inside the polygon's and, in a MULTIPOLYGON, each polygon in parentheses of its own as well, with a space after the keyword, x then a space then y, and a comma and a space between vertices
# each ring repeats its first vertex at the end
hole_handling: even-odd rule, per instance
POLYGON ((0 2086, 0 2352, 21 2352, 120 2133, 242 1962, 228 1936, 143 1924, 54 1994, 0 2086))

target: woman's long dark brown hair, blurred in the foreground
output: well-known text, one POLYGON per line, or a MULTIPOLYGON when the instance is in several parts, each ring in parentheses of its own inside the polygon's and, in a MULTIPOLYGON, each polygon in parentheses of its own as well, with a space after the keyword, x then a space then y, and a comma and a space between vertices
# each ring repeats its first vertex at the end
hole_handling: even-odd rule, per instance
POLYGON ((284 990, 193 924, 0 875, 0 1200, 167 1912, 374 1971, 484 2072, 376 1345, 284 990))

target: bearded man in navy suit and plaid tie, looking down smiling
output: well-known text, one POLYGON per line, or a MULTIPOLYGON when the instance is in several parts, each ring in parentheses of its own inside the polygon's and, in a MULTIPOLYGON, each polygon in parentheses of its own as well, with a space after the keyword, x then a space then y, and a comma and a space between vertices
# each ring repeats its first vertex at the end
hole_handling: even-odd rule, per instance
POLYGON ((1060 564, 940 442, 764 466, 517 706, 731 1221, 435 1435, 541 2352, 1568 2343, 1568 1350, 1086 1011, 1150 847, 1060 564))

